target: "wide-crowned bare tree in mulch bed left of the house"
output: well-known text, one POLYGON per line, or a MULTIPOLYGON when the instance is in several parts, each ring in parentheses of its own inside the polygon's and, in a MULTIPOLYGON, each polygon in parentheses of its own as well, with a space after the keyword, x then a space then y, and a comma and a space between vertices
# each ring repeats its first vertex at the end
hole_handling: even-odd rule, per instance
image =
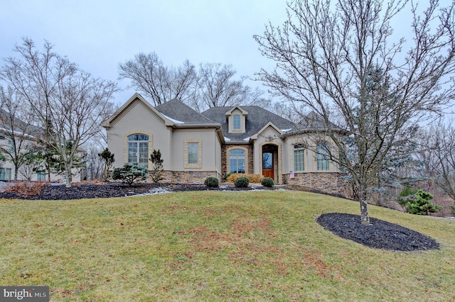
POLYGON ((66 186, 80 147, 98 131, 105 109, 118 91, 114 82, 96 79, 52 51, 45 41, 38 50, 24 38, 0 71, 1 79, 14 87, 31 107, 31 114, 44 129, 43 140, 63 161, 66 186))

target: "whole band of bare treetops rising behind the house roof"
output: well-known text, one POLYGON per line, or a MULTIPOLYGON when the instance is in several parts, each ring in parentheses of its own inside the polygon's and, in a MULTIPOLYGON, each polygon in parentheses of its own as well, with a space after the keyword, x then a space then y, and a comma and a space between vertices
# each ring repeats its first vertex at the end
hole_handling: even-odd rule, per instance
POLYGON ((130 79, 130 87, 149 96, 155 106, 180 99, 199 112, 264 101, 263 92, 245 85, 247 77, 235 79, 236 73, 232 65, 201 63, 196 69, 188 60, 179 67, 166 67, 155 52, 139 53, 119 65, 119 78, 130 79))

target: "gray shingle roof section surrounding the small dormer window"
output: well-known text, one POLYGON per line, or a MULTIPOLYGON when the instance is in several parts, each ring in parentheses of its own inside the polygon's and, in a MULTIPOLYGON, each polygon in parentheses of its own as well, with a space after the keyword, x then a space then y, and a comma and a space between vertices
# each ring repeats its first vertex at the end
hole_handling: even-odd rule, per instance
POLYGON ((264 128, 264 126, 269 122, 272 122, 281 130, 296 129, 294 123, 291 121, 287 121, 285 118, 277 116, 276 114, 267 111, 259 106, 240 107, 248 112, 245 133, 229 133, 228 121, 226 120, 226 112, 230 111, 232 107, 214 107, 208 109, 207 111, 204 111, 201 114, 212 121, 220 123, 221 128, 223 129, 223 135, 235 142, 240 142, 245 138, 250 138, 252 135, 255 135, 259 132, 259 130, 264 128))

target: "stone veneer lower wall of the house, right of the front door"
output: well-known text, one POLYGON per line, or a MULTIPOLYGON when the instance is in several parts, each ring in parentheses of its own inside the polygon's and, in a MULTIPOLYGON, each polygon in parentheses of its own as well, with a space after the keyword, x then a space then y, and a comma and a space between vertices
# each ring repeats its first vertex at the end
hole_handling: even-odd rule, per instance
POLYGON ((294 178, 291 179, 289 174, 284 174, 283 183, 304 186, 309 190, 350 198, 352 194, 348 181, 344 179, 345 176, 346 174, 343 173, 309 172, 296 173, 294 178))

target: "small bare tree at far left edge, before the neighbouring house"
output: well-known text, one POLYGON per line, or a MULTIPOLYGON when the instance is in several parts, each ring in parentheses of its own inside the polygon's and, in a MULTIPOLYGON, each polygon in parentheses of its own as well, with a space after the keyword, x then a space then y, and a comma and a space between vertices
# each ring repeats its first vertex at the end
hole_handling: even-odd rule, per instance
POLYGON ((11 87, 5 91, 0 86, 0 104, 0 131, 9 141, 0 150, 14 164, 16 180, 21 167, 28 161, 28 155, 35 150, 34 145, 41 129, 31 125, 33 116, 27 110, 28 104, 11 87))

